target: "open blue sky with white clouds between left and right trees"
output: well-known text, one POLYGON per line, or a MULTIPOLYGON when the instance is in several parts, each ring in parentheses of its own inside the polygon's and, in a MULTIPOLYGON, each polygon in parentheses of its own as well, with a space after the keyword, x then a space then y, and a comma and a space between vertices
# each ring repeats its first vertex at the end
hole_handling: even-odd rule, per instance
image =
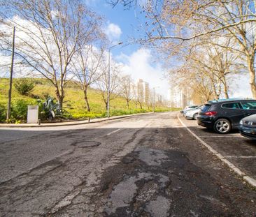
POLYGON ((115 45, 122 41, 124 45, 111 50, 113 59, 124 64, 123 73, 131 74, 136 82, 143 79, 150 88, 157 87, 156 92, 168 98, 169 83, 164 78, 164 70, 155 61, 155 52, 131 43, 133 38, 143 36, 145 18, 140 8, 125 9, 121 4, 114 8, 105 0, 85 0, 87 5, 106 20, 105 28, 115 45))

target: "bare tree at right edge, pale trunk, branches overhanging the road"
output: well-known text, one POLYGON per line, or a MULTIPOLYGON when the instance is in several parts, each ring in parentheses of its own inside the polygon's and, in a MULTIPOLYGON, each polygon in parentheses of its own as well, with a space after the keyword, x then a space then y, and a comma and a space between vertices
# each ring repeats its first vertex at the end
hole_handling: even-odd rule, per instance
MULTIPOLYGON (((136 0, 112 0, 115 6, 136 6, 136 0)), ((239 47, 229 47, 246 57, 250 75, 250 89, 256 98, 255 52, 256 52, 256 1, 253 0, 172 0, 146 1, 142 6, 148 18, 143 27, 145 38, 141 43, 151 43, 162 50, 174 52, 188 41, 208 36, 225 35, 236 40, 239 47), (173 51, 174 50, 174 51, 173 51)))

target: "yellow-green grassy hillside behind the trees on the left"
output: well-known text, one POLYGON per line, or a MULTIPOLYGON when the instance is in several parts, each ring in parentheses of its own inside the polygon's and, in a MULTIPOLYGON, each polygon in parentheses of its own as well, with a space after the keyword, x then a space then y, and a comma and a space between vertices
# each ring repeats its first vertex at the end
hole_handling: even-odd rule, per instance
MULTIPOLYGON (((14 79, 13 82, 18 79, 14 79)), ((29 96, 20 95, 16 89, 13 87, 13 112, 16 104, 19 104, 20 101, 23 103, 27 103, 29 105, 37 105, 38 100, 45 100, 45 96, 55 97, 55 88, 45 79, 34 79, 36 87, 34 91, 32 91, 29 96), (15 104, 16 103, 16 104, 15 104)), ((92 112, 87 112, 85 107, 85 101, 83 99, 83 91, 76 84, 70 83, 65 90, 65 98, 64 98, 64 110, 71 114, 73 119, 83 119, 83 118, 95 118, 95 117, 106 117, 106 108, 104 101, 101 98, 101 94, 99 91, 95 89, 89 89, 88 98, 92 112)), ((3 116, 3 107, 6 107, 8 101, 8 79, 0 78, 0 105, 2 113, 0 116, 3 116)), ((26 105, 27 106, 27 105, 26 105)), ((25 110, 25 105, 24 110, 25 110)), ((20 110, 17 108, 17 110, 20 110)), ((134 102, 130 103, 130 109, 127 109, 125 99, 124 98, 116 98, 111 100, 111 116, 121 115, 121 114, 135 114, 138 112, 150 112, 152 110, 148 109, 148 107, 144 106, 143 110, 136 108, 134 102)), ((170 108, 167 107, 156 107, 156 111, 168 111, 170 108)), ((17 111, 18 112, 18 111, 17 111)), ((3 119, 3 118, 2 118, 3 119)), ((16 118, 16 119, 24 119, 16 118)), ((3 121, 3 120, 2 120, 3 121)))

